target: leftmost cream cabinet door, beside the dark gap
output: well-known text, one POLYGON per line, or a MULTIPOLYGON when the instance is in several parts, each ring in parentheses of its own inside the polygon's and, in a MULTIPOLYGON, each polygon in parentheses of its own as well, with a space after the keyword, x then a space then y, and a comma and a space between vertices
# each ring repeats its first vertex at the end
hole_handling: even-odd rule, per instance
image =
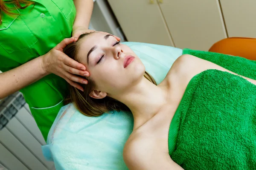
POLYGON ((128 41, 173 46, 156 0, 108 0, 108 2, 128 41))

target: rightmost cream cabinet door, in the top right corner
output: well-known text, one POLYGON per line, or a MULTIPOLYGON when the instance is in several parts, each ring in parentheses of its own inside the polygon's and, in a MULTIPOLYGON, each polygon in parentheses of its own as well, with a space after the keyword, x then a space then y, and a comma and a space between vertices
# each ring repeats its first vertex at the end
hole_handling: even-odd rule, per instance
POLYGON ((256 38, 256 0, 221 0, 229 37, 256 38))

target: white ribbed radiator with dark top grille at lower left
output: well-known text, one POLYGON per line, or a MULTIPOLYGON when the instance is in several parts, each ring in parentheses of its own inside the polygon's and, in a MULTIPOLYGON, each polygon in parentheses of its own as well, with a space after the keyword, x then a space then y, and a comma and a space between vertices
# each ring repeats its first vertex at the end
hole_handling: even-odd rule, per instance
POLYGON ((23 95, 0 100, 0 170, 55 170, 43 156, 44 144, 23 95))

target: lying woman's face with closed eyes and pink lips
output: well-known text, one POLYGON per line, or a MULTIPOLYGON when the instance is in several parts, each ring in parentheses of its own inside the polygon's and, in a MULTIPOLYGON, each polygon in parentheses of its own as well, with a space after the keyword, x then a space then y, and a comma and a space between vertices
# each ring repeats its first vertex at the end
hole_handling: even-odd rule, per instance
POLYGON ((145 66, 139 57, 110 34, 89 34, 79 48, 79 62, 96 83, 96 91, 116 95, 143 78, 145 66))

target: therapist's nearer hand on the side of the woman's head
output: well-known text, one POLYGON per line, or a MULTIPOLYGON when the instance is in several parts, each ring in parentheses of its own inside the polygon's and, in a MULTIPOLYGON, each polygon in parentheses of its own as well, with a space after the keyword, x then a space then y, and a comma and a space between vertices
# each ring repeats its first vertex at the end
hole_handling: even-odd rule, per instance
POLYGON ((70 85, 84 91, 81 85, 76 82, 87 84, 88 81, 76 75, 88 77, 89 72, 86 71, 84 65, 63 53, 63 49, 74 41, 76 41, 74 37, 62 40, 58 45, 52 48, 51 51, 41 56, 41 64, 47 73, 56 74, 64 78, 70 85))

